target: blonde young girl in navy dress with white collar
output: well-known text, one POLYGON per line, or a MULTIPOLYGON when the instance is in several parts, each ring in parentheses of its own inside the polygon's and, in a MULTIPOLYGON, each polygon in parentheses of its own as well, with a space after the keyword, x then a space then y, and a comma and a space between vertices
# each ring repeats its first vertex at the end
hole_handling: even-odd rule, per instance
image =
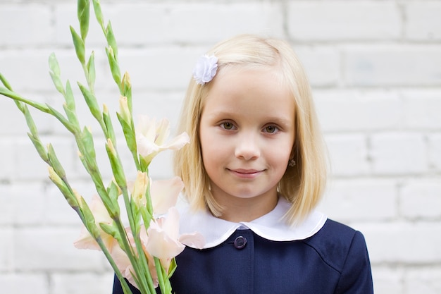
MULTIPOLYGON (((325 149, 287 43, 241 35, 213 47, 195 68, 180 131, 192 138, 175 157, 180 229, 206 245, 176 257, 175 293, 373 293, 363 235, 315 209, 325 149)), ((123 293, 118 279, 113 293, 123 293)))

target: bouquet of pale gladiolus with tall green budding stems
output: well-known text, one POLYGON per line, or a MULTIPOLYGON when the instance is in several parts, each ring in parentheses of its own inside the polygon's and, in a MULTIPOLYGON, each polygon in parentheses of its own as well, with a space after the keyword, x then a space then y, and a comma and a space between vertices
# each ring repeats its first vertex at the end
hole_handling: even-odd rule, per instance
POLYGON ((179 215, 174 206, 183 188, 182 180, 176 177, 171 180, 151 181, 149 164, 156 154, 164 149, 180 149, 187 144, 189 137, 186 133, 182 133, 166 144, 169 133, 166 119, 156 124, 154 120, 142 117, 135 128, 132 119, 130 78, 128 73, 123 77, 120 75, 118 47, 111 23, 104 25, 99 0, 92 0, 92 4, 95 17, 106 37, 106 55, 111 74, 120 91, 120 109, 116 116, 122 127, 126 145, 135 161, 137 169, 135 180, 130 181, 125 177, 117 151, 111 116, 105 104, 102 111, 99 109, 94 92, 94 52, 92 51, 92 54, 86 58, 85 50, 85 39, 89 30, 89 0, 77 1, 80 33, 70 27, 75 53, 87 80, 87 86, 80 82, 77 85, 90 113, 98 121, 106 138, 106 152, 113 172, 113 180, 104 184, 96 160, 92 131, 87 127, 80 127, 75 111, 73 88, 69 81, 66 84, 61 81, 60 68, 54 54, 49 57, 49 73, 56 90, 64 97, 64 114, 48 104, 26 99, 14 92, 1 73, 0 80, 4 87, 0 86, 0 94, 12 98, 18 109, 23 112, 30 130, 28 133, 30 140, 39 156, 49 165, 49 178, 84 223, 84 231, 75 242, 75 247, 104 252, 123 286, 124 293, 131 293, 125 279, 135 285, 141 293, 156 293, 157 286, 161 288, 161 293, 171 293, 169 278, 176 268, 175 256, 184 250, 184 244, 202 245, 203 240, 197 233, 179 235, 179 215), (28 106, 54 116, 75 138, 80 161, 97 190, 97 195, 90 204, 87 204, 69 184, 54 147, 51 144, 44 147, 28 106), (122 212, 118 203, 120 197, 123 197, 125 213, 128 217, 127 227, 121 219, 122 212))

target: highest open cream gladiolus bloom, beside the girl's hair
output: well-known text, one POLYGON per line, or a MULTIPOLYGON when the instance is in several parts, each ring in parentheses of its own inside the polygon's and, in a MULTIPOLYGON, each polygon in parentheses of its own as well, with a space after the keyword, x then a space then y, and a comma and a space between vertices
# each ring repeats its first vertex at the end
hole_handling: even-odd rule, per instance
POLYGON ((190 142, 187 133, 182 133, 166 143, 168 135, 170 135, 170 127, 166 118, 156 124, 155 119, 150 119, 148 116, 139 116, 135 131, 136 143, 139 155, 147 164, 150 164, 151 159, 159 152, 166 149, 178 150, 190 142))

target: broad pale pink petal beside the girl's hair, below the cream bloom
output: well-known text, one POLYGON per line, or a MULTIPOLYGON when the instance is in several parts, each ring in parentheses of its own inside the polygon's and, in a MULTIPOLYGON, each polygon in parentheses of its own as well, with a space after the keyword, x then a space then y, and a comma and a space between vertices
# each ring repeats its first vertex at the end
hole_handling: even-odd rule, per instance
POLYGON ((151 182, 150 195, 154 213, 166 214, 170 207, 175 206, 183 188, 184 183, 179 177, 151 182))

